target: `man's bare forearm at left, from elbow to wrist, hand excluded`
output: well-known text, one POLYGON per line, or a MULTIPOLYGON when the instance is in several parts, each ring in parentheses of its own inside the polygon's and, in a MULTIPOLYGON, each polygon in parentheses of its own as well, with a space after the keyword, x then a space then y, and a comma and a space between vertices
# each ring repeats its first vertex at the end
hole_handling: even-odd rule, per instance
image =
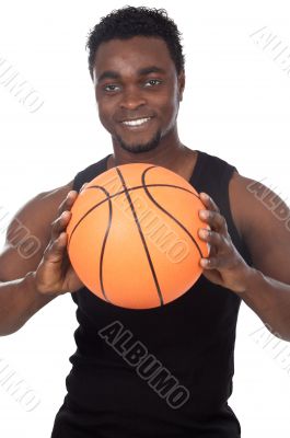
POLYGON ((0 336, 21 328, 25 322, 57 295, 42 295, 33 272, 16 280, 0 283, 0 336))

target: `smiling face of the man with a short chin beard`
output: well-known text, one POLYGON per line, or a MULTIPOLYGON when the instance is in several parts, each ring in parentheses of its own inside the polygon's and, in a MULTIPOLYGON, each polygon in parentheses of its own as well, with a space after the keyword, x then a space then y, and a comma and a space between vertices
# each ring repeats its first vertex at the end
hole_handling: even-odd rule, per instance
POLYGON ((161 38, 102 43, 94 64, 100 120, 115 145, 137 153, 158 147, 175 129, 184 88, 161 38))

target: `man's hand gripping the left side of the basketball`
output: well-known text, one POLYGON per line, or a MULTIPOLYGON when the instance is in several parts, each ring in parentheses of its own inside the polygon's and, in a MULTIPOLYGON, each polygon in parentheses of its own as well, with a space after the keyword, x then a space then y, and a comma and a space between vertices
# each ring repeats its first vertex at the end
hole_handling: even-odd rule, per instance
POLYGON ((69 192, 58 208, 59 217, 51 223, 50 242, 35 272, 35 287, 39 293, 62 295, 84 286, 71 266, 67 252, 66 229, 71 218, 70 209, 77 197, 78 192, 69 192))

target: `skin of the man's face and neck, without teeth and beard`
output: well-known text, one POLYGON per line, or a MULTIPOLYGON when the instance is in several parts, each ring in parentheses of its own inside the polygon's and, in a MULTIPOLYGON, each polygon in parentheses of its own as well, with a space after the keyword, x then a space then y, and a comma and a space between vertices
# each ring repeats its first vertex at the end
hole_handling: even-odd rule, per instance
POLYGON ((113 141, 109 166, 150 162, 173 171, 184 169, 193 152, 181 143, 176 125, 184 83, 184 72, 176 74, 162 39, 135 37, 100 46, 94 84, 100 119, 113 141), (121 123, 148 116, 152 118, 138 128, 121 123), (156 148, 136 152, 140 145, 146 148, 158 131, 161 139, 156 148), (120 147, 118 137, 126 142, 126 149, 120 147))

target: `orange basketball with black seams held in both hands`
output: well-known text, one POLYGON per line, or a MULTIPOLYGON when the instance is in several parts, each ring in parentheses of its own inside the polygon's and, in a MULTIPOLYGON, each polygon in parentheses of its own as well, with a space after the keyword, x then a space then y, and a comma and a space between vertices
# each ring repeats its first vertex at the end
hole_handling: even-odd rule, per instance
POLYGON ((112 168, 82 189, 67 228, 68 254, 81 281, 129 309, 166 304, 199 278, 208 245, 195 188, 149 163, 112 168))

